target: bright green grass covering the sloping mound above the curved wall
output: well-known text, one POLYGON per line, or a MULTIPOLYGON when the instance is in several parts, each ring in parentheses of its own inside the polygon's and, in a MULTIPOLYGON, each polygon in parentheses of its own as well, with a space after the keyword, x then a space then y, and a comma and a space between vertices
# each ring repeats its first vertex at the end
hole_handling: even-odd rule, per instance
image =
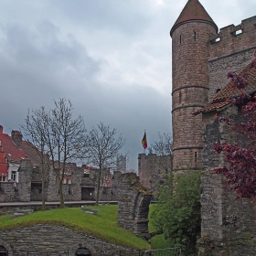
POLYGON ((146 240, 140 239, 131 231, 118 226, 116 205, 87 208, 99 210, 98 216, 84 214, 80 208, 37 211, 16 219, 10 219, 10 215, 4 215, 0 216, 0 229, 23 228, 35 224, 54 224, 134 249, 150 249, 146 240))

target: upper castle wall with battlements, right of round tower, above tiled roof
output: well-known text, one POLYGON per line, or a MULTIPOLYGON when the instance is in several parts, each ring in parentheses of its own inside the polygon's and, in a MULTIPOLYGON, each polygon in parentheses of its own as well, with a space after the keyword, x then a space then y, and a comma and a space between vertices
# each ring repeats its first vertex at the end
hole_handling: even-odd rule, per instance
POLYGON ((240 72, 253 60, 256 49, 256 16, 245 19, 241 25, 220 28, 219 42, 208 43, 209 100, 226 85, 229 71, 240 72), (236 31, 242 33, 235 35, 236 31))

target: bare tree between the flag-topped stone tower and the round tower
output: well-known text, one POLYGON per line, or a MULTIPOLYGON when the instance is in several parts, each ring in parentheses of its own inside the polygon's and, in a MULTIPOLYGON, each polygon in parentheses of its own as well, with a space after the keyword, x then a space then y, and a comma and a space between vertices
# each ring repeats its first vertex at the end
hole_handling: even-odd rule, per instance
POLYGON ((173 139, 170 133, 158 133, 158 141, 152 144, 150 150, 155 153, 157 165, 159 165, 166 173, 172 170, 172 146, 173 139))

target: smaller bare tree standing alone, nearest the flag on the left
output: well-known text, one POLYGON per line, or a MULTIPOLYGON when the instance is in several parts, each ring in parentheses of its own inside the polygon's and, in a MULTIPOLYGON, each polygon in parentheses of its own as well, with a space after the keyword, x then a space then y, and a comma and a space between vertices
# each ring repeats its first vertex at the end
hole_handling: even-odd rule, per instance
POLYGON ((87 156, 89 162, 99 168, 97 176, 96 205, 99 204, 101 174, 103 170, 115 167, 116 157, 125 140, 116 129, 100 123, 88 134, 87 156))

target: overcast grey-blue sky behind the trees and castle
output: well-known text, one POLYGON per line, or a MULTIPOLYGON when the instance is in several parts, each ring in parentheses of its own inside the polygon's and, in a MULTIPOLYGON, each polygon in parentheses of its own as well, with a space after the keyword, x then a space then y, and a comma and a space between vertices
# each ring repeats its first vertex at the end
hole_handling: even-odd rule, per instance
MULTIPOLYGON (((28 109, 66 98, 88 130, 103 122, 126 139, 128 168, 171 132, 171 37, 187 0, 0 0, 4 133, 28 109)), ((218 27, 256 15, 255 0, 201 0, 218 27)))

